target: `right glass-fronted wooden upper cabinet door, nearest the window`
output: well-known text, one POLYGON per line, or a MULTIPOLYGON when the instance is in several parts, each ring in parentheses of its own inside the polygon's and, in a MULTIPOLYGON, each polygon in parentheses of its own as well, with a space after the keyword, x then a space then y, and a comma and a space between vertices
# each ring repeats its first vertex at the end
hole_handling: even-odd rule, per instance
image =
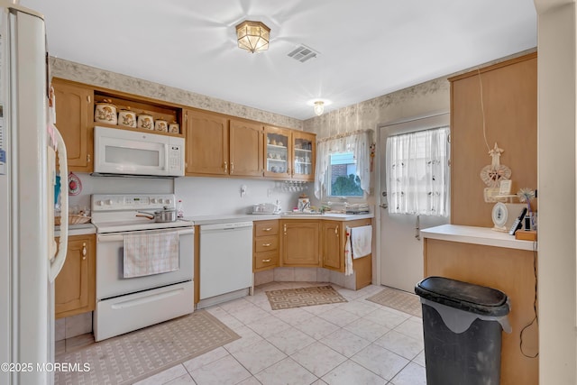
POLYGON ((292 132, 292 178, 315 180, 316 134, 292 132))

